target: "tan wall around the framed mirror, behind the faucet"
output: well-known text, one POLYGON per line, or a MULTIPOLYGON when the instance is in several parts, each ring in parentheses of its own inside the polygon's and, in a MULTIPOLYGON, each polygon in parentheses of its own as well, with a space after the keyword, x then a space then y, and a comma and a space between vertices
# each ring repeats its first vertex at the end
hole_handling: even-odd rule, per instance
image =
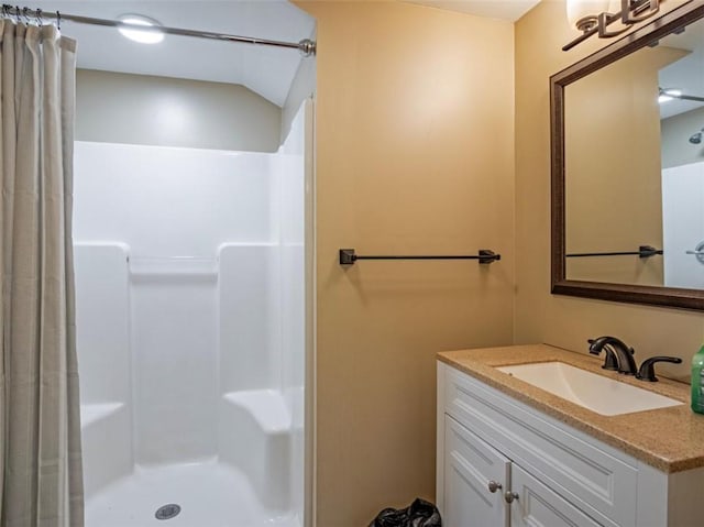
POLYGON ((571 52, 574 33, 562 1, 543 1, 516 24, 516 328, 515 342, 546 342, 586 351, 586 339, 615 334, 638 361, 656 354, 685 360, 662 366, 689 375, 691 355, 704 338, 704 314, 580 299, 550 294, 550 75, 603 45, 595 40, 571 52))

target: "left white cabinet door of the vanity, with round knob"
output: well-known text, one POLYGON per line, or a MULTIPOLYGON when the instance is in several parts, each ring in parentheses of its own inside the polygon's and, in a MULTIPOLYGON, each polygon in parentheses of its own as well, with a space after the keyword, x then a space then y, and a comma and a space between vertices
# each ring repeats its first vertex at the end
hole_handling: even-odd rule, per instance
POLYGON ((450 416, 444 416, 446 527, 507 527, 510 461, 450 416), (490 490, 494 482, 501 487, 490 490))

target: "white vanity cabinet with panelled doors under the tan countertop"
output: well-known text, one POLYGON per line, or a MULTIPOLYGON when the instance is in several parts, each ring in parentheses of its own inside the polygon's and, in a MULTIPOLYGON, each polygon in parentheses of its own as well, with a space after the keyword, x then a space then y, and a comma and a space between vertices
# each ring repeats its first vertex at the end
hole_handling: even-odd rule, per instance
POLYGON ((702 469, 661 472, 442 362, 437 430, 447 527, 704 525, 702 469))

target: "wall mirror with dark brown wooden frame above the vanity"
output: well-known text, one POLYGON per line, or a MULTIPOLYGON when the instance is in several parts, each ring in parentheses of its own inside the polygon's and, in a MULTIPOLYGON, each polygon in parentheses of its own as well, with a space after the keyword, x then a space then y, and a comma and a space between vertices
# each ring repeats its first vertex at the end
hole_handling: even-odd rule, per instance
POLYGON ((552 293, 704 310, 704 3, 550 88, 552 293))

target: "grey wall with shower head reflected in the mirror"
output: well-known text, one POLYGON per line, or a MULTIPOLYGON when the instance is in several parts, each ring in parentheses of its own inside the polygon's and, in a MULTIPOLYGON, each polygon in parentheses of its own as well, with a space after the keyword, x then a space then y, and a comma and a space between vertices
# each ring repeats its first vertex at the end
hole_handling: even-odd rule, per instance
POLYGON ((662 167, 671 168, 704 161, 704 136, 700 144, 690 143, 692 134, 702 129, 704 129, 704 108, 663 119, 662 167))

